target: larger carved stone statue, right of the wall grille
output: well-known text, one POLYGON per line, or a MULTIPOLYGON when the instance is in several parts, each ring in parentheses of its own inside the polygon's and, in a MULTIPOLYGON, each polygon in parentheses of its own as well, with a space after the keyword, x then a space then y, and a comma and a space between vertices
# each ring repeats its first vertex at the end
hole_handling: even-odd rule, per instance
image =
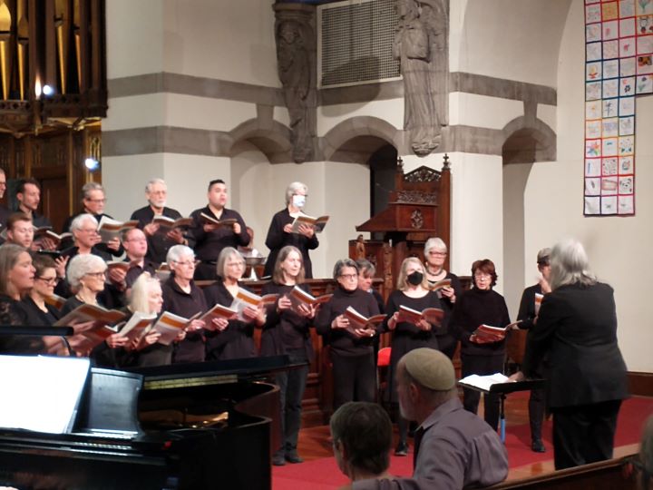
POLYGON ((404 78, 404 130, 415 154, 433 152, 447 124, 447 0, 397 0, 393 54, 404 78))

